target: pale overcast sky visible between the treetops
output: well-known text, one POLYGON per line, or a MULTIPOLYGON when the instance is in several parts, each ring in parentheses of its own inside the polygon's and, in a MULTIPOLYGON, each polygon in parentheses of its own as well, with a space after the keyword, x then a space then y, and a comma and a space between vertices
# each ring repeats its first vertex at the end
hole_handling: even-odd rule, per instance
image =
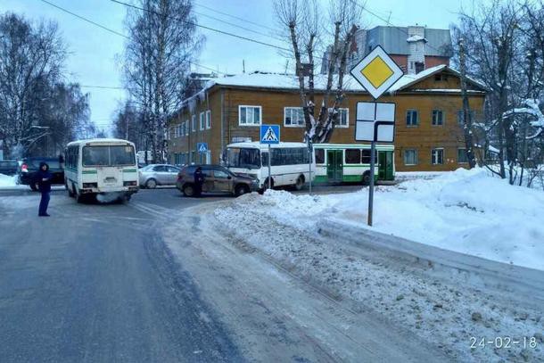
MULTIPOLYGON (((111 3, 109 0, 48 0, 70 12, 86 17, 103 26, 125 33, 124 18, 126 8, 111 3)), ((327 4, 326 0, 323 0, 327 4)), ((469 4, 468 2, 464 2, 469 4)), ((447 0, 368 0, 367 8, 380 17, 390 19, 394 25, 426 25, 429 28, 448 29, 457 21, 461 1, 447 0)), ((280 45, 272 29, 276 21, 272 9, 272 0, 196 0, 194 11, 200 24, 226 30, 244 37, 252 37, 267 43, 280 45), (211 9, 211 10, 210 10, 211 9), (228 15, 233 15, 236 19, 228 15), (216 18, 211 19, 210 17, 216 18), (265 35, 251 33, 221 21, 227 21, 246 29, 252 29, 265 35)), ((69 46, 70 57, 67 70, 70 81, 83 86, 121 87, 120 56, 125 39, 97 28, 86 21, 55 9, 41 0, 0 0, 0 12, 17 12, 29 19, 51 19, 57 21, 62 37, 69 46)), ((364 12, 367 26, 386 25, 374 15, 364 12)), ((268 70, 283 71, 284 58, 273 48, 252 44, 241 39, 228 37, 209 30, 201 29, 206 43, 200 55, 199 64, 222 72, 242 72, 245 60, 246 71, 268 70)), ((195 68, 194 70, 207 72, 195 68)), ((118 103, 127 97, 125 91, 115 89, 84 88, 90 94, 91 120, 99 128, 108 128, 113 111, 118 103)))

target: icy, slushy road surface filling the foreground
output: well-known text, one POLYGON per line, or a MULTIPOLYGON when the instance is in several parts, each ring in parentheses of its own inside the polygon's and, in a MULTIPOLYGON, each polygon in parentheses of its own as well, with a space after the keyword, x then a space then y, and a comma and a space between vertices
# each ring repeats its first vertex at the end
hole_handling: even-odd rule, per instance
MULTIPOLYGON (((248 243, 215 218, 231 198, 161 189, 127 204, 78 205, 61 192, 52 201, 53 217, 37 219, 37 194, 0 194, 3 362, 466 361, 444 349, 445 320, 433 320, 442 344, 429 336, 429 322, 416 322, 417 315, 435 318, 424 301, 433 305, 438 296, 450 299, 441 302, 444 315, 455 318, 451 286, 426 284, 409 269, 294 229, 276 231, 268 246, 248 243), (358 275, 349 277, 362 284, 339 285, 359 260, 358 275), (402 301, 391 296, 394 284, 405 284, 402 301), (410 312, 412 305, 422 311, 410 312), (414 334, 415 323, 424 334, 414 334)), ((247 222, 281 227, 259 218, 247 222)), ((530 354, 538 361, 540 351, 530 354)))

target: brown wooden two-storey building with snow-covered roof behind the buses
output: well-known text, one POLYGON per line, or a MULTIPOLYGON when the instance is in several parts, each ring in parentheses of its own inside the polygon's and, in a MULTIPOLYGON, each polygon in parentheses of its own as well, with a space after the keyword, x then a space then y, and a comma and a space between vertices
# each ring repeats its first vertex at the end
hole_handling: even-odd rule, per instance
MULTIPOLYGON (((325 83, 325 77, 317 76, 316 89, 325 83)), ((210 80, 169 120, 169 161, 218 163, 227 144, 258 141, 260 124, 278 124, 282 141, 301 142, 304 120, 297 84, 293 75, 260 72, 210 80), (210 151, 199 153, 198 143, 207 143, 210 151)), ((485 89, 474 81, 469 81, 468 87, 470 108, 474 120, 478 120, 482 117, 485 89)), ((354 140, 356 104, 372 101, 372 97, 349 76, 345 95, 331 143, 360 144, 354 140)), ((416 75, 404 75, 379 101, 396 103, 397 171, 466 166, 456 70, 439 65, 416 75)))

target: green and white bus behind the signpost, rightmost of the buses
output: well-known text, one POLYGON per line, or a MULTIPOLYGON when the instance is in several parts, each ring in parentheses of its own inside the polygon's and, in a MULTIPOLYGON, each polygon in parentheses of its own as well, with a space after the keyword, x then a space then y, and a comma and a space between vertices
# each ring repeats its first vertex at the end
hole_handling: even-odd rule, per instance
MULTIPOLYGON (((394 146, 376 144, 375 180, 394 180, 394 146)), ((370 144, 314 144, 316 183, 370 183, 370 144)))

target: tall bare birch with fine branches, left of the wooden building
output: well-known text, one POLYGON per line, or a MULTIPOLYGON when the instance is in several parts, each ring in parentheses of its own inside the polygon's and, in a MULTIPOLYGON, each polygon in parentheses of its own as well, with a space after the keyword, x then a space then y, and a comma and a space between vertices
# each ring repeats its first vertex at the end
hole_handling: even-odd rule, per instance
POLYGON ((128 9, 123 68, 130 95, 143 117, 152 161, 158 161, 166 157, 166 121, 180 106, 185 78, 202 37, 196 34, 192 0, 138 0, 136 4, 128 9))

